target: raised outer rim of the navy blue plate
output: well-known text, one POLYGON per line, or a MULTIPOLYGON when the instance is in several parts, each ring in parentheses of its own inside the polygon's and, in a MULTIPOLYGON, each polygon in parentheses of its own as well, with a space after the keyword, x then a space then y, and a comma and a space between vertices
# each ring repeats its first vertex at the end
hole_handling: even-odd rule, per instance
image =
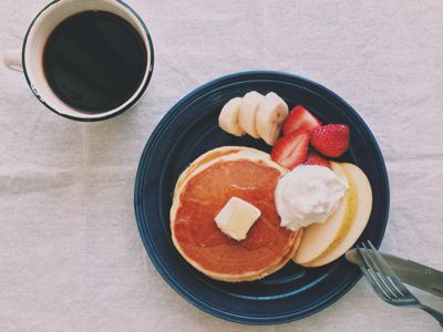
POLYGON ((143 149, 142 156, 140 158, 138 167, 137 167, 137 173, 135 177, 135 186, 134 186, 134 211, 135 211, 135 218, 137 222, 137 228, 140 236, 142 238, 142 242, 145 247, 145 250, 155 266, 156 270, 158 273, 162 276, 162 278, 182 297, 184 298, 187 302, 190 304, 195 305, 196 308, 203 310, 206 313, 209 313, 214 317, 217 317, 219 319, 224 319, 227 321, 236 322, 236 323, 243 323, 243 324, 254 324, 254 325, 269 325, 269 324, 280 324, 280 323, 287 323, 291 322, 295 320, 300 320, 302 318, 306 318, 308 315, 315 314, 322 309, 329 307, 333 302, 338 301, 340 298, 342 298, 350 289, 353 288, 353 286, 360 280, 362 277, 361 272, 359 270, 356 271, 356 273, 350 274, 350 277, 347 279, 347 281, 337 289, 334 293, 331 293, 329 297, 322 299, 321 301, 317 302, 316 307, 309 308, 305 311, 301 312, 290 312, 287 314, 281 314, 281 315, 272 315, 272 317, 253 317, 253 315, 241 315, 238 313, 229 312, 219 308, 215 308, 210 305, 209 303, 200 300, 199 298, 195 297, 192 292, 189 292, 187 289, 183 288, 169 273, 169 271, 163 266, 162 259, 159 258, 158 253, 156 252, 155 246, 152 243, 152 239, 148 236, 148 232, 144 229, 144 225, 142 225, 142 220, 145 219, 145 216, 143 214, 143 209, 140 208, 140 201, 141 201, 141 195, 142 195, 142 187, 144 184, 144 170, 145 166, 148 163, 151 155, 152 155, 152 149, 153 146, 155 146, 156 142, 158 138, 161 138, 161 134, 164 131, 165 127, 167 127, 168 123, 174 120, 175 116, 178 116, 181 114, 179 110, 182 108, 183 105, 187 104, 188 102, 192 102, 196 98, 202 97, 206 93, 209 93, 213 89, 219 89, 223 85, 231 84, 231 83, 238 83, 243 81, 257 81, 257 80, 276 80, 276 81, 289 81, 293 83, 293 80, 298 81, 298 83, 303 83, 307 84, 309 87, 316 89, 317 92, 320 92, 322 94, 326 94, 329 98, 330 102, 334 104, 340 104, 340 106, 343 106, 347 112, 351 113, 352 116, 357 118, 358 125, 360 125, 368 138, 370 139, 374 154, 378 155, 380 158, 380 165, 379 168, 380 173, 382 174, 383 178, 383 184, 382 186, 382 191, 385 196, 385 212, 384 212, 384 218, 382 222, 382 228, 380 229, 379 237, 380 240, 374 243, 377 248, 380 247, 384 234, 385 234, 385 228, 388 225, 388 219, 389 219, 389 210, 390 210, 390 186, 389 186, 389 177, 388 177, 388 170, 387 166, 384 163, 384 158, 382 155, 382 152, 380 149, 380 146, 378 142, 375 141, 375 137, 373 136, 371 129, 367 125, 367 123, 363 121, 363 118, 358 114, 358 112, 348 103, 346 102, 342 97, 340 97, 338 94, 332 92, 331 90, 324 87, 323 85, 311 81, 309 79, 302 77, 300 75, 282 72, 282 71, 244 71, 244 72, 237 72, 237 73, 231 73, 228 75, 224 75, 220 77, 217 77, 215 80, 210 80, 209 82, 192 90, 189 93, 187 93, 185 96, 183 96, 178 102, 176 102, 169 111, 161 118, 161 121, 157 123, 155 126, 154 131, 151 133, 145 147, 143 149), (267 77, 264 77, 267 76, 267 77), (234 82, 231 82, 234 80, 234 82), (220 83, 225 82, 225 84, 220 85, 220 83), (209 90, 208 90, 209 89, 209 90), (208 90, 208 91, 206 91, 208 90))

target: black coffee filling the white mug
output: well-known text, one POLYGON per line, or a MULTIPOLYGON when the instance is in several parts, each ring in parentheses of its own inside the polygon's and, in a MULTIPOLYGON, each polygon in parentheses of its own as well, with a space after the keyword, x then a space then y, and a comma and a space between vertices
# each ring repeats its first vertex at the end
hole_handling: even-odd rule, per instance
POLYGON ((61 22, 43 53, 52 91, 85 113, 110 111, 127 101, 142 83, 146 62, 138 32, 104 11, 81 12, 61 22))

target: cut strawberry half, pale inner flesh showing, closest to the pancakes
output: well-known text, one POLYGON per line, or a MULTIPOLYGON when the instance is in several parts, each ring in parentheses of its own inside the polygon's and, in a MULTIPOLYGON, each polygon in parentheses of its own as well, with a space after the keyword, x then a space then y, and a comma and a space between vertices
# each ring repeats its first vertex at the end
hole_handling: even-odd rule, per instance
POLYGON ((281 166, 292 169, 303 163, 308 155, 309 131, 300 128, 277 139, 270 157, 281 166))

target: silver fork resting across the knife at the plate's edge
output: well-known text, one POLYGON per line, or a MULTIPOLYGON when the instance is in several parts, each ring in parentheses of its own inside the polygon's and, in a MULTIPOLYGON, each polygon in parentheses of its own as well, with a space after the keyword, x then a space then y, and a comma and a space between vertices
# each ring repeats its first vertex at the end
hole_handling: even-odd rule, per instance
POLYGON ((368 241, 368 245, 371 249, 368 249, 363 242, 362 247, 357 246, 357 250, 364 261, 364 267, 360 267, 360 269, 379 298, 389 304, 424 310, 443 326, 443 314, 422 304, 400 281, 371 241, 368 241))

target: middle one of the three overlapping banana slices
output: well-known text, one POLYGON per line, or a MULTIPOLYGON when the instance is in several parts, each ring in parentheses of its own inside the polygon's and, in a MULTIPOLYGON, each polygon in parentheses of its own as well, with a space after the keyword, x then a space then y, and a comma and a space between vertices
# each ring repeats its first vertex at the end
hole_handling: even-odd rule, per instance
POLYGON ((260 137, 256 128, 256 115, 262 98, 264 95, 259 94, 257 91, 248 92, 241 98, 238 112, 238 123, 240 127, 254 138, 260 137))

